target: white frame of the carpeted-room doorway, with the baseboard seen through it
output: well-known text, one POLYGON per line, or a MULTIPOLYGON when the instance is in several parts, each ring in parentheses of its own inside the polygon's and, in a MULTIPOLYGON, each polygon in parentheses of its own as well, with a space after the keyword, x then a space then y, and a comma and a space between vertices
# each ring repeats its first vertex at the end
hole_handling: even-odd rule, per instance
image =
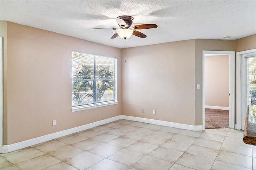
MULTIPOLYGON (((202 118, 203 118, 203 129, 205 129, 205 108, 209 109, 218 109, 218 110, 226 110, 228 111, 228 127, 229 128, 234 128, 235 125, 235 119, 234 119, 234 86, 235 86, 235 81, 234 81, 234 73, 235 73, 235 52, 234 51, 203 51, 203 59, 202 59, 202 72, 203 72, 203 81, 202 81, 202 118), (207 56, 218 56, 218 55, 228 55, 228 89, 227 89, 227 94, 228 95, 228 104, 226 104, 226 107, 214 107, 214 108, 209 108, 207 105, 205 105, 205 94, 206 94, 206 87, 205 87, 205 57, 207 56)), ((218 68, 216 68, 218 69, 218 68)), ((222 87, 220 87, 222 90, 222 87)))

